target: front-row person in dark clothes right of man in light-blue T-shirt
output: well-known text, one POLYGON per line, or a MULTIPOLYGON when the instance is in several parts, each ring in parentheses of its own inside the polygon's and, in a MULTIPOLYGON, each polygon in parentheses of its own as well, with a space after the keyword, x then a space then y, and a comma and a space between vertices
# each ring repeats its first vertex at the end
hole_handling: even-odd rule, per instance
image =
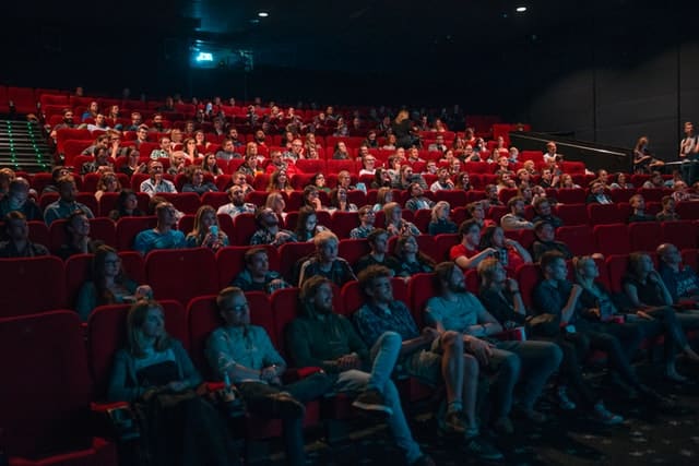
MULTIPOLYGON (((508 278, 505 267, 495 258, 488 258, 478 264, 481 277, 481 290, 478 298, 487 311, 498 320, 505 330, 524 326, 526 323, 526 308, 522 300, 519 284, 513 278, 508 278)), ((532 339, 532 335, 526 338, 532 339)), ((546 339, 534 337, 534 339, 546 339)), ((580 365, 581 356, 576 345, 562 337, 552 339, 564 354, 556 381, 556 394, 558 404, 564 410, 572 410, 577 406, 568 397, 568 389, 578 395, 578 399, 584 405, 585 410, 592 414, 593 419, 607 426, 618 425, 624 421, 621 416, 609 413, 602 398, 594 393, 582 375, 580 365)))

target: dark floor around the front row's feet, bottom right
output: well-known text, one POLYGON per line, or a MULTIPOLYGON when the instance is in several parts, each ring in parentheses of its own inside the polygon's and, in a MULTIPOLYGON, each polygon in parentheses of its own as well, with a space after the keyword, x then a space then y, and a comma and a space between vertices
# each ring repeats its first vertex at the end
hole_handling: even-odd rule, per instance
MULTIPOLYGON (((512 438, 494 439, 506 455, 499 464, 699 465, 699 383, 667 383, 657 365, 643 365, 637 369, 648 385, 672 397, 680 409, 673 414, 657 413, 611 389, 605 377, 592 377, 590 381, 604 393, 607 407, 626 418, 624 425, 603 427, 578 411, 572 415, 560 413, 545 398, 538 407, 550 415, 549 423, 537 427, 514 419, 517 432, 512 438)), ((699 369, 684 368, 683 372, 699 381, 699 369)), ((429 416, 418 417, 413 422, 413 433, 438 465, 478 464, 461 451, 458 439, 438 434, 429 416)), ((329 466, 404 464, 386 429, 367 428, 357 431, 356 435, 344 449, 330 449, 322 442, 310 444, 308 463, 329 466)), ((283 464, 282 461, 273 463, 283 464)))

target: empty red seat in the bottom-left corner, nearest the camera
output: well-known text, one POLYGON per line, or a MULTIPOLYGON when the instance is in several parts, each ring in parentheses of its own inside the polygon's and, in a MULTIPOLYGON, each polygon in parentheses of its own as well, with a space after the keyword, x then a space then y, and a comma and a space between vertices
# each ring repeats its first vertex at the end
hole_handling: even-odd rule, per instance
POLYGON ((117 465, 116 446, 91 437, 93 383, 75 312, 0 319, 0 367, 2 450, 9 464, 117 465))

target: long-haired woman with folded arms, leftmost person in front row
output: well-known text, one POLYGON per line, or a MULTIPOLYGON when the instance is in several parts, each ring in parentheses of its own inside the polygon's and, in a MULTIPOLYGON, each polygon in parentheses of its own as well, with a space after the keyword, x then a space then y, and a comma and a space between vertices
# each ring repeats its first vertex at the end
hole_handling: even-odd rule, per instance
POLYGON ((239 464, 221 415, 193 393, 201 383, 182 344, 165 331, 163 307, 147 300, 133 304, 127 316, 127 345, 115 356, 107 397, 141 407, 135 413, 145 429, 147 454, 157 464, 239 464), (166 397, 178 394, 182 401, 165 405, 166 397))

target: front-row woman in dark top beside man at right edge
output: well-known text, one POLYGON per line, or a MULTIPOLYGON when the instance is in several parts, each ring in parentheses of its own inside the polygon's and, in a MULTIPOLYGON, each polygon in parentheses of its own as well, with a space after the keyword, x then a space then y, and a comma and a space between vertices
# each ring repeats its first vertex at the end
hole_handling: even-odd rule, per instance
POLYGON ((699 362, 699 355, 689 346, 684 332, 684 328, 699 327, 699 314, 675 313, 673 297, 645 253, 629 255, 629 267, 621 283, 631 311, 627 319, 640 320, 649 335, 665 335, 665 374, 675 382, 686 381, 675 369, 675 351, 679 347, 691 362, 699 362))

